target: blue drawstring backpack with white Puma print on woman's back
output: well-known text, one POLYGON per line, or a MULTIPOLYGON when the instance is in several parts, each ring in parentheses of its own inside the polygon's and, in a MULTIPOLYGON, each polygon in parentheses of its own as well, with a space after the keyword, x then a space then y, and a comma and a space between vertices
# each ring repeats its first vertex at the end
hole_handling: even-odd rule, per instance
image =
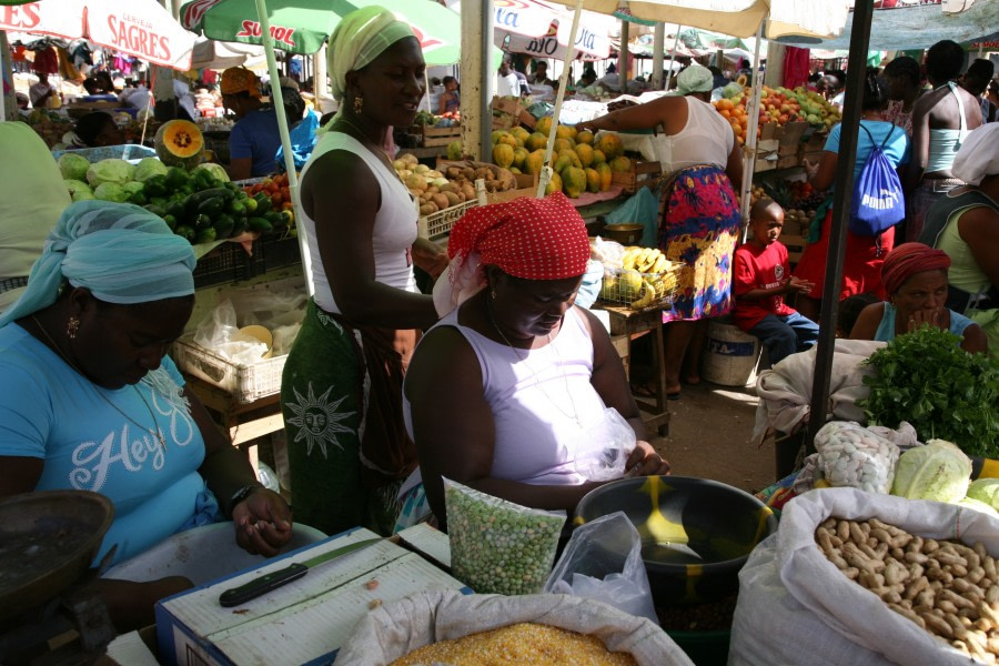
POLYGON ((901 181, 898 172, 885 154, 885 144, 895 133, 895 124, 885 140, 878 145, 870 130, 864 124, 860 129, 867 132, 872 148, 857 182, 854 183, 854 196, 850 201, 849 230, 862 236, 879 236, 906 216, 906 201, 902 196, 901 181))

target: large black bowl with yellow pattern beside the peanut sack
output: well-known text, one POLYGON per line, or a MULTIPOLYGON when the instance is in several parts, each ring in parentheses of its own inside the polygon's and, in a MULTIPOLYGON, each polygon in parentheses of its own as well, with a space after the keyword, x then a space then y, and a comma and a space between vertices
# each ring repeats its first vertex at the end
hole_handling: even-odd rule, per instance
POLYGON ((576 525, 622 511, 642 535, 657 606, 705 604, 738 591, 749 553, 777 531, 763 502, 706 478, 639 476, 603 485, 576 507, 576 525))

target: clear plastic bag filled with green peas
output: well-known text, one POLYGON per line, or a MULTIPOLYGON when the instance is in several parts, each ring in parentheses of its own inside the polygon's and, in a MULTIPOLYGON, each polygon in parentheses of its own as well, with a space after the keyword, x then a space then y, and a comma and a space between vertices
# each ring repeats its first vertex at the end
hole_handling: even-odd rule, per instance
POLYGON ((528 508, 444 478, 454 576, 480 594, 542 592, 565 512, 528 508))

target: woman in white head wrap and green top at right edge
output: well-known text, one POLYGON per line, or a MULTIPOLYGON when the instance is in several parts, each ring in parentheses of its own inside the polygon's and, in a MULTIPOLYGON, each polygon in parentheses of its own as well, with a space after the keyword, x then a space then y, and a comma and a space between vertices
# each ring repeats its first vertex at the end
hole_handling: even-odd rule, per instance
POLYGON ((999 354, 999 123, 983 124, 961 144, 951 171, 965 181, 926 214, 921 243, 950 256, 947 306, 970 317, 999 354))

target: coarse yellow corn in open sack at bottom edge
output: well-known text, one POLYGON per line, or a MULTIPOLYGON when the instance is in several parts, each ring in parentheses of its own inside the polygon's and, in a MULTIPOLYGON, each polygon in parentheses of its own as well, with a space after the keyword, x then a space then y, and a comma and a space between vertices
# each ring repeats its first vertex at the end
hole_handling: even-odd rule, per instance
POLYGON ((531 664, 547 666, 635 666, 627 653, 609 652, 599 638, 548 625, 522 623, 442 640, 414 649, 390 666, 501 666, 531 664))

